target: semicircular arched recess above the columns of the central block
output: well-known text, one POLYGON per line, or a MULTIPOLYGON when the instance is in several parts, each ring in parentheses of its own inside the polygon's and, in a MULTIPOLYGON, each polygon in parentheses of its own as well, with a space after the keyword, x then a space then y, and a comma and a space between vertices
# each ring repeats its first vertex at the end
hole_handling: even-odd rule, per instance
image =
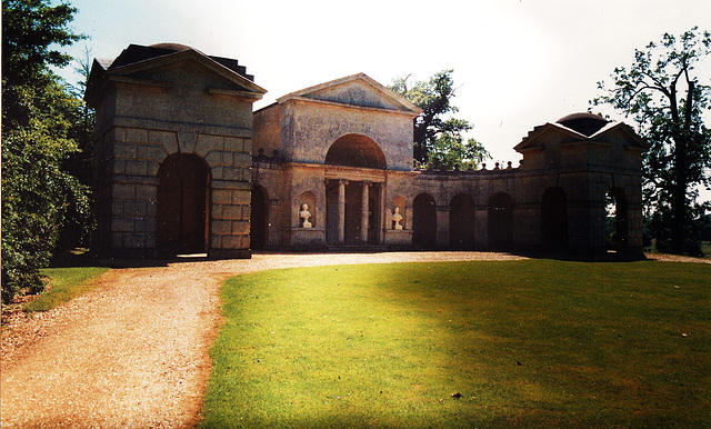
POLYGON ((365 136, 346 134, 336 140, 326 154, 326 163, 360 168, 385 169, 385 154, 365 136))

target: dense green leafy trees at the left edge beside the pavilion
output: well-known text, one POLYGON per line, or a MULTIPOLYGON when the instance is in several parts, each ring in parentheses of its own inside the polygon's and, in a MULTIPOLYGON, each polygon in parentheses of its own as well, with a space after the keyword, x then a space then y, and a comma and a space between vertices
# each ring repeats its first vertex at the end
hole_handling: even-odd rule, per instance
POLYGON ((88 189, 62 164, 77 150, 70 131, 80 102, 51 67, 70 57, 56 47, 81 38, 76 9, 48 0, 2 1, 2 300, 38 292, 68 219, 89 219, 88 189))

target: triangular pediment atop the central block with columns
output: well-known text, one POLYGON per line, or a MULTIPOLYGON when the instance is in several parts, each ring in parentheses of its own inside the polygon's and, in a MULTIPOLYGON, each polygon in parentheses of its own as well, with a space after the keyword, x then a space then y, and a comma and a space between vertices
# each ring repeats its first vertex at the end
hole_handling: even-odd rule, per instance
POLYGON ((417 106, 363 73, 332 80, 289 93, 281 97, 278 102, 283 103, 293 99, 402 111, 412 114, 419 114, 421 112, 417 106))

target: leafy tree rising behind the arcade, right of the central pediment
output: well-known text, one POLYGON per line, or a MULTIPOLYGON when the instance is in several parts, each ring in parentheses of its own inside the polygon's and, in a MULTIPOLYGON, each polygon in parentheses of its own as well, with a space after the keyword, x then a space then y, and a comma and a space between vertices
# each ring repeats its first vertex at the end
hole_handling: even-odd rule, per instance
POLYGON ((438 168, 453 168, 457 164, 474 163, 490 158, 473 139, 462 140, 462 132, 473 126, 463 119, 451 117, 459 109, 451 103, 454 98, 453 70, 435 73, 428 81, 418 81, 408 88, 408 77, 395 78, 389 87, 395 93, 422 109, 414 120, 414 160, 432 162, 438 168))

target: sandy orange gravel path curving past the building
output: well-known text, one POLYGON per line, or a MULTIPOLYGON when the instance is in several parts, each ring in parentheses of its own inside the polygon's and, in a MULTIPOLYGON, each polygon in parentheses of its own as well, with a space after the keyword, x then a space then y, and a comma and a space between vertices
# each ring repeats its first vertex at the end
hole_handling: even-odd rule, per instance
POLYGON ((209 347, 220 323, 219 287, 237 273, 503 259, 521 258, 482 252, 256 255, 251 260, 114 269, 93 292, 18 327, 24 340, 3 341, 1 423, 193 426, 210 373, 209 347))

